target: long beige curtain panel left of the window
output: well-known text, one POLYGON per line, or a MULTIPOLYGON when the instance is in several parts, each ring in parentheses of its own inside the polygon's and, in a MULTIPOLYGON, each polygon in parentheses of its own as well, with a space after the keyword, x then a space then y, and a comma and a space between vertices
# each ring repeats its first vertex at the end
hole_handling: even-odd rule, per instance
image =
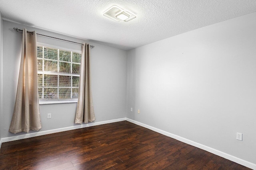
POLYGON ((16 102, 9 132, 41 129, 37 86, 36 31, 22 32, 22 54, 16 102))

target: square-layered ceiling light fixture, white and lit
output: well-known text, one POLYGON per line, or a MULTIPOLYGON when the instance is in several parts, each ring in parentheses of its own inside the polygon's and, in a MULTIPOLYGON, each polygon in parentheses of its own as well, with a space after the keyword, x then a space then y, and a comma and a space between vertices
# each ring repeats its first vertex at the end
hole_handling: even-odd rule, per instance
POLYGON ((121 8, 119 8, 118 6, 112 6, 111 8, 109 8, 108 10, 106 10, 106 12, 104 12, 103 14, 105 17, 108 17, 114 21, 130 21, 134 18, 136 18, 136 16, 134 14, 132 14, 131 12, 122 10, 121 8))

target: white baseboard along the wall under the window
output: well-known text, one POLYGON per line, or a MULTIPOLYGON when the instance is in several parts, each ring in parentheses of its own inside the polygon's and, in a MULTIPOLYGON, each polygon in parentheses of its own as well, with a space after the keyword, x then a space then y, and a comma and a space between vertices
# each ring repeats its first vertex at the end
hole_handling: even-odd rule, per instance
POLYGON ((4 143, 4 142, 16 141, 16 140, 26 139, 26 138, 30 138, 30 137, 37 137, 37 136, 42 136, 42 135, 48 135, 51 133, 70 131, 70 130, 74 130, 74 129, 80 129, 80 128, 84 128, 84 127, 91 127, 91 126, 97 126, 97 125, 104 125, 107 123, 114 123, 114 122, 125 121, 125 120, 126 120, 126 118, 113 119, 113 120, 108 120, 108 121, 92 122, 92 123, 86 123, 86 124, 81 124, 81 125, 76 125, 76 126, 63 127, 63 128, 59 128, 59 129, 52 129, 52 130, 48 130, 48 131, 38 131, 35 133, 27 133, 24 135, 18 135, 18 136, 13 136, 13 137, 4 137, 1 139, 1 144, 2 144, 2 142, 4 143))

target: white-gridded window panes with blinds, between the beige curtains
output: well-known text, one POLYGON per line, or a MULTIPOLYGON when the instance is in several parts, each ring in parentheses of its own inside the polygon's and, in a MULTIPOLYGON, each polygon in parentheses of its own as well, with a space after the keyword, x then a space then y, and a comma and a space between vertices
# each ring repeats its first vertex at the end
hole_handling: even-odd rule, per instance
POLYGON ((37 46, 40 100, 78 98, 81 53, 37 46))

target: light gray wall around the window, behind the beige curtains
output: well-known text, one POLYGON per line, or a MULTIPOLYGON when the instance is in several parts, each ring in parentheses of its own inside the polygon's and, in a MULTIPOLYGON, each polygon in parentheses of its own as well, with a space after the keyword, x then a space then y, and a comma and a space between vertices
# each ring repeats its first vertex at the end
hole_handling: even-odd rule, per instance
MULTIPOLYGON (((84 40, 67 37, 64 35, 31 28, 28 26, 3 22, 3 106, 2 106, 2 138, 22 135, 9 133, 10 121, 14 109, 18 71, 20 65, 20 51, 22 32, 16 32, 13 27, 22 29, 26 27, 29 31, 36 30, 37 33, 50 35, 70 41, 83 43, 84 40)), ((86 33, 86 31, 85 31, 86 33)), ((60 47, 71 47, 81 49, 80 45, 58 41, 37 36, 38 42, 58 45, 60 47)), ((87 41, 88 43, 88 41, 87 41)), ((89 42, 90 43, 90 42, 89 42)), ((91 49, 91 72, 92 72, 92 95, 96 121, 108 121, 126 117, 126 80, 127 80, 127 52, 96 43, 91 49)), ((40 105, 42 131, 70 127, 74 124, 76 103, 40 105), (47 113, 52 113, 52 118, 47 119, 47 113)), ((30 131, 30 133, 37 133, 30 131)))

